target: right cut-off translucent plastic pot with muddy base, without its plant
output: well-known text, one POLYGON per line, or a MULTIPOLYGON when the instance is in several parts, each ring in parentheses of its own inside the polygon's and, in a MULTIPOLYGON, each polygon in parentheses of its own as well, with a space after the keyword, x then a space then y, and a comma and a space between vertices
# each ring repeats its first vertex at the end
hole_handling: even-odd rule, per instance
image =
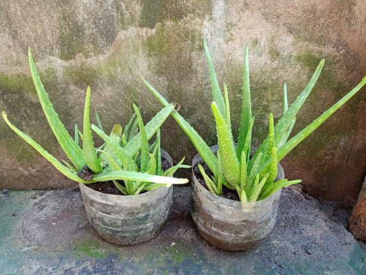
MULTIPOLYGON (((218 146, 212 146, 216 153, 218 146)), ((281 190, 262 201, 242 203, 212 194, 194 175, 193 168, 203 159, 197 154, 192 160, 191 214, 199 234, 217 248, 238 251, 253 248, 271 232, 277 217, 281 190)), ((284 179, 279 165, 277 180, 284 179)))

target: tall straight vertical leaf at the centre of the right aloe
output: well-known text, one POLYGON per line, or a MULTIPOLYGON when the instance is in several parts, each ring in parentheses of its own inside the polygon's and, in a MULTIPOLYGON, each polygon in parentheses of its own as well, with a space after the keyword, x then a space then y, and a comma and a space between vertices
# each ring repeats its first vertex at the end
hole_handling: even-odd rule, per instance
POLYGON ((249 84, 249 54, 248 46, 245 47, 244 64, 243 64, 243 76, 242 76, 242 115, 240 118, 239 138, 238 146, 236 148, 236 156, 241 161, 242 150, 244 148, 244 142, 249 136, 249 148, 245 154, 249 156, 251 154, 251 131, 249 131, 251 124, 251 87, 249 84))

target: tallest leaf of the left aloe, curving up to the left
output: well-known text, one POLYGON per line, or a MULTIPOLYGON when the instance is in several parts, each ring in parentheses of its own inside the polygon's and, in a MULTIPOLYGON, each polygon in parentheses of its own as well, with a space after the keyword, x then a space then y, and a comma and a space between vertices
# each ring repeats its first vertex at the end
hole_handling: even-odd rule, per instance
POLYGON ((34 87, 36 87, 39 102, 41 102, 41 106, 49 123, 49 126, 51 127, 52 132, 54 132, 54 135, 62 150, 65 151, 65 154, 71 160, 73 166, 80 170, 86 164, 82 155, 82 149, 74 142, 71 135, 69 135, 69 133, 65 129, 65 126, 60 121, 60 118, 58 118, 58 115, 54 107, 52 106, 52 103, 49 101, 47 92, 45 91, 45 87, 43 87, 43 83, 38 75, 36 65, 34 64, 30 48, 28 50, 28 59, 30 63, 30 72, 32 74, 34 87))

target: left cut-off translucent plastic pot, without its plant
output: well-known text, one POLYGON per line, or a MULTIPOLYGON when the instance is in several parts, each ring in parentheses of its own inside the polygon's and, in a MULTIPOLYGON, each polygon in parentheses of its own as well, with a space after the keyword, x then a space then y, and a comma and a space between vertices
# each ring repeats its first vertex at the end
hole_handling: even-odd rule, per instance
MULTIPOLYGON (((172 166, 172 158, 161 150, 172 166)), ((163 229, 173 201, 173 187, 134 196, 108 195, 79 183, 87 218, 103 239, 119 245, 148 241, 163 229)))

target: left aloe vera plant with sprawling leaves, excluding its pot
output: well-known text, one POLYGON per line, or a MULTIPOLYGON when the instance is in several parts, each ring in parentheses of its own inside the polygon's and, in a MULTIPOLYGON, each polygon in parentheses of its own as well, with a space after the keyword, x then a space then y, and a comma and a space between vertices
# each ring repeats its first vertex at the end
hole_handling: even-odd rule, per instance
POLYGON ((187 179, 176 179, 171 177, 178 168, 190 167, 182 164, 184 158, 178 165, 169 170, 165 172, 161 170, 159 128, 174 110, 174 104, 167 104, 167 106, 161 109, 161 111, 159 111, 159 113, 157 113, 146 125, 144 125, 142 121, 139 109, 134 105, 135 114, 130 119, 130 122, 128 122, 124 132, 122 133, 122 126, 116 124, 113 127, 111 134, 106 135, 102 129, 98 113, 95 112, 99 126, 90 124, 89 104, 91 91, 90 87, 88 87, 84 105, 82 133, 78 130, 78 126, 76 125, 75 138, 73 139, 58 118, 58 114, 49 101, 47 92, 38 75, 30 49, 28 57, 32 79, 45 117, 71 164, 65 162, 65 160, 62 160, 63 163, 58 161, 56 157, 48 153, 40 144, 16 128, 16 126, 8 120, 5 111, 2 112, 3 119, 15 133, 33 146, 36 151, 49 160, 49 162, 51 162, 63 175, 69 177, 69 179, 72 179, 73 181, 84 184, 113 180, 117 188, 125 195, 137 195, 142 190, 152 190, 163 185, 170 186, 171 184, 187 183, 187 179), (105 144, 100 146, 100 148, 95 148, 93 144, 91 129, 105 141, 105 144), (155 133, 157 133, 156 141, 149 148, 148 140, 150 140, 155 133), (82 147, 79 145, 79 137, 82 139, 82 147), (152 153, 150 153, 150 151, 152 151, 152 153), (88 169, 90 169, 89 175, 82 175, 82 173, 80 173, 81 171, 88 169), (125 186, 119 184, 117 180, 123 180, 125 186))

